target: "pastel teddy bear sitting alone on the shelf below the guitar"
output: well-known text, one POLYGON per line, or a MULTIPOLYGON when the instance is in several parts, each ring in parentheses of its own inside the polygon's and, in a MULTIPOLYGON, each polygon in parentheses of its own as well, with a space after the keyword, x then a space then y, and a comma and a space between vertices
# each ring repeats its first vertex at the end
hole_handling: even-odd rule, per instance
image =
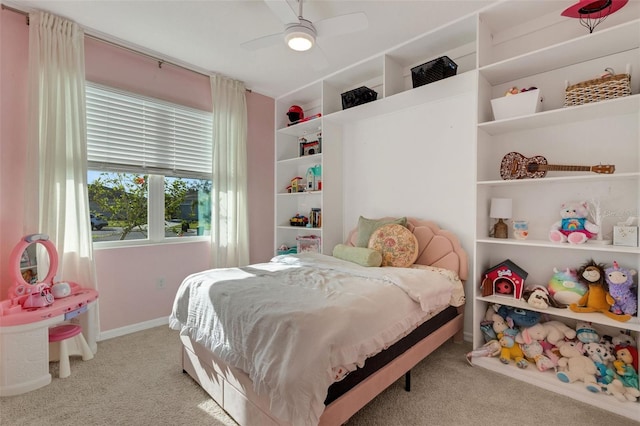
POLYGON ((600 227, 587 219, 586 201, 562 204, 560 220, 551 226, 549 239, 554 243, 582 244, 600 232, 600 227))

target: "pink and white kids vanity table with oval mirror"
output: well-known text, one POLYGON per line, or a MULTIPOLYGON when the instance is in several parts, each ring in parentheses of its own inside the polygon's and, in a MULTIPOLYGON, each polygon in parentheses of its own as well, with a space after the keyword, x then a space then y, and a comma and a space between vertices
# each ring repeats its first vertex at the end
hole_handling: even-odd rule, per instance
POLYGON ((58 253, 47 235, 23 237, 11 253, 9 267, 9 298, 0 301, 0 396, 51 383, 49 327, 76 323, 91 351, 97 350, 98 292, 73 282, 54 283, 58 253))

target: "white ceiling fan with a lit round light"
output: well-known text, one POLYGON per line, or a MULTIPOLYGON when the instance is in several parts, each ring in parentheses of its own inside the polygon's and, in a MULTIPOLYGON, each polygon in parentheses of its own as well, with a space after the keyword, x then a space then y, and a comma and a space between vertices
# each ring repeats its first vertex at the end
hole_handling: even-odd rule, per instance
POLYGON ((367 15, 364 12, 338 15, 316 22, 305 19, 302 14, 303 0, 298 0, 298 12, 296 13, 286 0, 269 1, 265 4, 285 25, 284 31, 258 37, 241 44, 249 50, 258 50, 284 42, 290 49, 304 52, 316 51, 316 58, 324 59, 324 55, 318 47, 318 40, 324 37, 335 37, 361 31, 369 26, 367 15))

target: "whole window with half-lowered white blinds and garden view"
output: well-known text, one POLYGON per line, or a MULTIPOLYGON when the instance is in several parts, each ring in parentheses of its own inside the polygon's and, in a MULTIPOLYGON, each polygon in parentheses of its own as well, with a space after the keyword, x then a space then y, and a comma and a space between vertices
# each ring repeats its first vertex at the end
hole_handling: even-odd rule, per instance
POLYGON ((86 93, 94 242, 206 235, 211 113, 94 83, 86 93))

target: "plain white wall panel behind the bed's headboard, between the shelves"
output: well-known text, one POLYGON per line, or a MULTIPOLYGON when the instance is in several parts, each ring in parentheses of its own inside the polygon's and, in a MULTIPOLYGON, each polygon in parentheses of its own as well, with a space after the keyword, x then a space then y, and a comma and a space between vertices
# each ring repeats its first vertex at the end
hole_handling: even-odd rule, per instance
MULTIPOLYGON (((344 224, 413 216, 454 231, 473 259, 475 94, 359 120, 343 128, 344 224)), ((470 266, 470 271, 473 270, 470 266)), ((466 283, 471 302, 472 277, 466 283)), ((465 334, 472 331, 472 303, 465 334)))

